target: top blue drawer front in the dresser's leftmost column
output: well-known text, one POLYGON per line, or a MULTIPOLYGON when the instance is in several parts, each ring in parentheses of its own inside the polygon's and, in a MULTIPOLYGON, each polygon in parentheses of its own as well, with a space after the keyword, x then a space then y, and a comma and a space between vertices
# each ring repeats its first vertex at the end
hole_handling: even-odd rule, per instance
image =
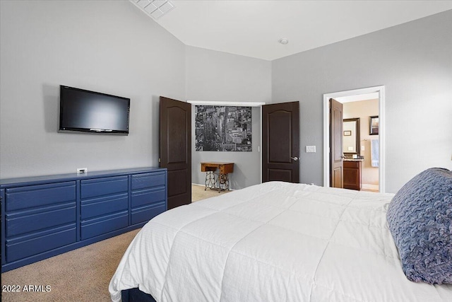
POLYGON ((76 200, 76 182, 29 185, 6 189, 6 211, 76 200))

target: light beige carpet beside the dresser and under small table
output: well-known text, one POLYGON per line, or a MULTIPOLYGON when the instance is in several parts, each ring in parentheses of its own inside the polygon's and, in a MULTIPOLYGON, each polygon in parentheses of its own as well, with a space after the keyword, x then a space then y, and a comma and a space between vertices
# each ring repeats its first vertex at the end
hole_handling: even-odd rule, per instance
MULTIPOLYGON (((192 202, 225 194, 192 186, 192 202)), ((1 287, 20 286, 20 292, 1 292, 1 301, 110 301, 108 284, 122 255, 140 229, 65 252, 1 274, 1 287), (23 291, 24 286, 50 286, 50 291, 23 291)))

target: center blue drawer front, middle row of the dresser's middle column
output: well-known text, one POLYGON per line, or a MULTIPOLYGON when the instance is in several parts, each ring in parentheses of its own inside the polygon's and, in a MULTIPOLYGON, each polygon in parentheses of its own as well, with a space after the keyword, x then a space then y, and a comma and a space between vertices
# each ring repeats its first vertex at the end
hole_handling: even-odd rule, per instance
POLYGON ((82 201, 81 219, 124 211, 129 208, 129 195, 119 194, 82 201))

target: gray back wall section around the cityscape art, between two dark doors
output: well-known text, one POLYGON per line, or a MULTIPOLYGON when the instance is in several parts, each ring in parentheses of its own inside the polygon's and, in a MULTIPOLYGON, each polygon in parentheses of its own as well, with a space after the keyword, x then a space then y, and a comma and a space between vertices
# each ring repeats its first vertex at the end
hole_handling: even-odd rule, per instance
MULTIPOLYGON (((225 52, 186 47, 186 99, 226 102, 270 102, 271 63, 225 52)), ((261 181, 261 110, 253 108, 252 152, 196 151, 192 146, 192 182, 204 184, 203 161, 234 162, 230 175, 233 189, 256 185, 261 181)), ((194 125, 194 109, 192 110, 194 125)), ((192 137, 195 136, 194 128, 192 137)))

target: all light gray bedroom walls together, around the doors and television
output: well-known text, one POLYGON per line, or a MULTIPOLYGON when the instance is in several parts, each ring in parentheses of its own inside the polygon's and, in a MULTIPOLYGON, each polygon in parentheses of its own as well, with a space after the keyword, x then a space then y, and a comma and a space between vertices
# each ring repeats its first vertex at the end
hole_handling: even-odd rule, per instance
MULTIPOLYGON (((165 95, 299 100, 301 182, 322 185, 323 93, 379 85, 386 191, 424 168, 452 168, 452 11, 273 62, 185 46, 128 1, 0 1, 0 13, 0 178, 158 165, 165 95), (131 98, 131 134, 57 133, 60 84, 131 98)), ((251 153, 194 151, 194 182, 204 180, 199 162, 234 161, 233 188, 258 183, 260 144, 254 135, 251 153)))

